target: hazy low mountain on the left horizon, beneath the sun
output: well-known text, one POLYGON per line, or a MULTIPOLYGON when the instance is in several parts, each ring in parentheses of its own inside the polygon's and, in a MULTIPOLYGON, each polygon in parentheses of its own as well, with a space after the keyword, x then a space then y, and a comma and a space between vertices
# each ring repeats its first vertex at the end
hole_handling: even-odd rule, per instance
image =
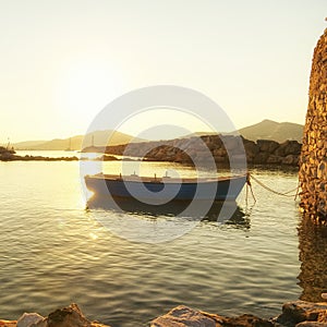
MULTIPOLYGON (((112 131, 96 131, 85 135, 85 146, 106 146, 108 135, 110 136, 110 145, 125 144, 130 142, 144 142, 146 140, 134 137, 132 135, 112 132, 112 131)), ((84 135, 75 135, 68 138, 55 138, 51 141, 25 141, 13 144, 15 149, 26 150, 81 150, 84 135)))

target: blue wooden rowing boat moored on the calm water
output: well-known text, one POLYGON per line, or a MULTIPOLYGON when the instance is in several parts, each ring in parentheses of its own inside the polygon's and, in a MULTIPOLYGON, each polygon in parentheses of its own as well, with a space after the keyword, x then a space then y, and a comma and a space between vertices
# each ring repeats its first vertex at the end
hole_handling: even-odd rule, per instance
POLYGON ((246 174, 217 178, 138 177, 98 173, 86 175, 85 183, 95 194, 112 197, 165 201, 234 201, 246 182, 246 174))

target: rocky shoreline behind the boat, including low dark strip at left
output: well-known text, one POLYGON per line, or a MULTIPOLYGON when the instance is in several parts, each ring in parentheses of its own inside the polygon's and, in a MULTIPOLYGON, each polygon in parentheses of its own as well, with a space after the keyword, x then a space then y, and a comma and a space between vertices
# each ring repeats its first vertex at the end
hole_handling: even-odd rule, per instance
MULTIPOLYGON (((153 141, 130 143, 112 146, 92 146, 81 149, 81 153, 98 153, 97 160, 143 160, 175 162, 182 165, 206 166, 208 152, 211 154, 214 162, 219 168, 231 165, 240 167, 296 167, 301 154, 301 143, 296 141, 286 141, 278 143, 269 140, 257 140, 256 142, 233 135, 204 135, 201 137, 175 138, 169 141, 153 141), (124 156, 125 158, 117 158, 124 156), (196 164, 196 165, 195 165, 196 164)), ((76 156, 60 158, 43 156, 19 156, 14 150, 0 147, 0 161, 74 161, 95 160, 84 159, 76 156)))

